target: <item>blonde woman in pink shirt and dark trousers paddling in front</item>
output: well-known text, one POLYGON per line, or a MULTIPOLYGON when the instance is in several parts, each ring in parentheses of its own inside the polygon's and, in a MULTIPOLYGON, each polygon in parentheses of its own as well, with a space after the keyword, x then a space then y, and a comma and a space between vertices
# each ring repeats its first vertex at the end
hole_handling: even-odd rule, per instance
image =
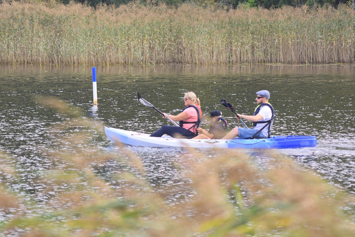
POLYGON ((159 130, 152 133, 151 137, 161 137, 167 134, 172 137, 183 136, 193 138, 197 135, 197 127, 200 123, 202 111, 200 100, 194 92, 185 93, 184 97, 185 108, 178 115, 170 115, 163 113, 163 118, 170 118, 179 121, 180 126, 163 125, 159 130))

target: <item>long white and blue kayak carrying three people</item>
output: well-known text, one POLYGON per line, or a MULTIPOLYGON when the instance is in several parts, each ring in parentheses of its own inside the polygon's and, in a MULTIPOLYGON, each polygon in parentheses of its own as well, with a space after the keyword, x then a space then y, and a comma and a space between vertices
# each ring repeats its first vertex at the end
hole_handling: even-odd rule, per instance
POLYGON ((192 147, 192 148, 301 148, 317 145, 316 136, 271 136, 262 139, 186 139, 171 136, 150 137, 150 134, 105 127, 108 139, 130 146, 142 147, 192 147))

